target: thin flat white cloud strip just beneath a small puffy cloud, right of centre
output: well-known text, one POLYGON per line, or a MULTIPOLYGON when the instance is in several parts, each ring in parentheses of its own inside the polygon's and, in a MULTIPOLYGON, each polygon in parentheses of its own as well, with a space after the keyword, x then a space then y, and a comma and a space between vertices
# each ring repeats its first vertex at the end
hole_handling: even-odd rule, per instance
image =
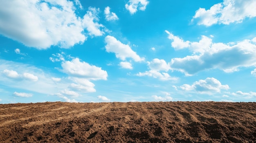
POLYGON ((162 80, 162 81, 167 81, 167 80, 177 81, 176 77, 171 77, 168 73, 160 73, 160 72, 155 71, 155 70, 148 70, 144 73, 139 72, 136 75, 139 76, 139 77, 141 77, 141 76, 153 77, 153 78, 157 78, 157 79, 162 80))

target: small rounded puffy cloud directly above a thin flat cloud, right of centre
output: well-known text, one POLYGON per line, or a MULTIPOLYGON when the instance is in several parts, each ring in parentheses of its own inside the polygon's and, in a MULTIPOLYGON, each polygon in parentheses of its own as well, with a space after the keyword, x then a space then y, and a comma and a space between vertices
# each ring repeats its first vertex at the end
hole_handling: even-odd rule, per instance
POLYGON ((151 62, 147 62, 148 63, 148 67, 151 70, 155 70, 155 71, 168 71, 170 70, 170 66, 165 62, 164 59, 153 59, 151 62))

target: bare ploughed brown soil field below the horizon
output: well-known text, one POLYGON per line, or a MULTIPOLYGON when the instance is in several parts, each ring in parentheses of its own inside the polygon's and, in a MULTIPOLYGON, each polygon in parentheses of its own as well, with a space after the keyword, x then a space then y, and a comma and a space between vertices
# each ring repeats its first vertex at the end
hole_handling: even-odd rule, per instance
POLYGON ((0 143, 256 143, 256 102, 0 104, 0 143))

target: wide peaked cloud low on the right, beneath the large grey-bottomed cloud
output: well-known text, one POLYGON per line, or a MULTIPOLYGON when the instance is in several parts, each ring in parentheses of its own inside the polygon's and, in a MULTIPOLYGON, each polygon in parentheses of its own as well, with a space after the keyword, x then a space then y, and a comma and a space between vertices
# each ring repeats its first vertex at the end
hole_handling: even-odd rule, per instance
POLYGON ((183 84, 180 86, 182 90, 186 91, 196 91, 200 94, 212 94, 214 92, 220 92, 221 90, 228 90, 228 85, 222 85, 220 81, 211 77, 207 77, 205 80, 195 81, 192 85, 183 84))

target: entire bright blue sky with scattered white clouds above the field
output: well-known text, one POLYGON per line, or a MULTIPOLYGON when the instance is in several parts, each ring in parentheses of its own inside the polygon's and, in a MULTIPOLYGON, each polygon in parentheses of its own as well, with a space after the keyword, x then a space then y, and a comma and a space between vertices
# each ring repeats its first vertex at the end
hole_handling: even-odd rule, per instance
POLYGON ((0 103, 256 101, 255 0, 0 0, 0 103))

